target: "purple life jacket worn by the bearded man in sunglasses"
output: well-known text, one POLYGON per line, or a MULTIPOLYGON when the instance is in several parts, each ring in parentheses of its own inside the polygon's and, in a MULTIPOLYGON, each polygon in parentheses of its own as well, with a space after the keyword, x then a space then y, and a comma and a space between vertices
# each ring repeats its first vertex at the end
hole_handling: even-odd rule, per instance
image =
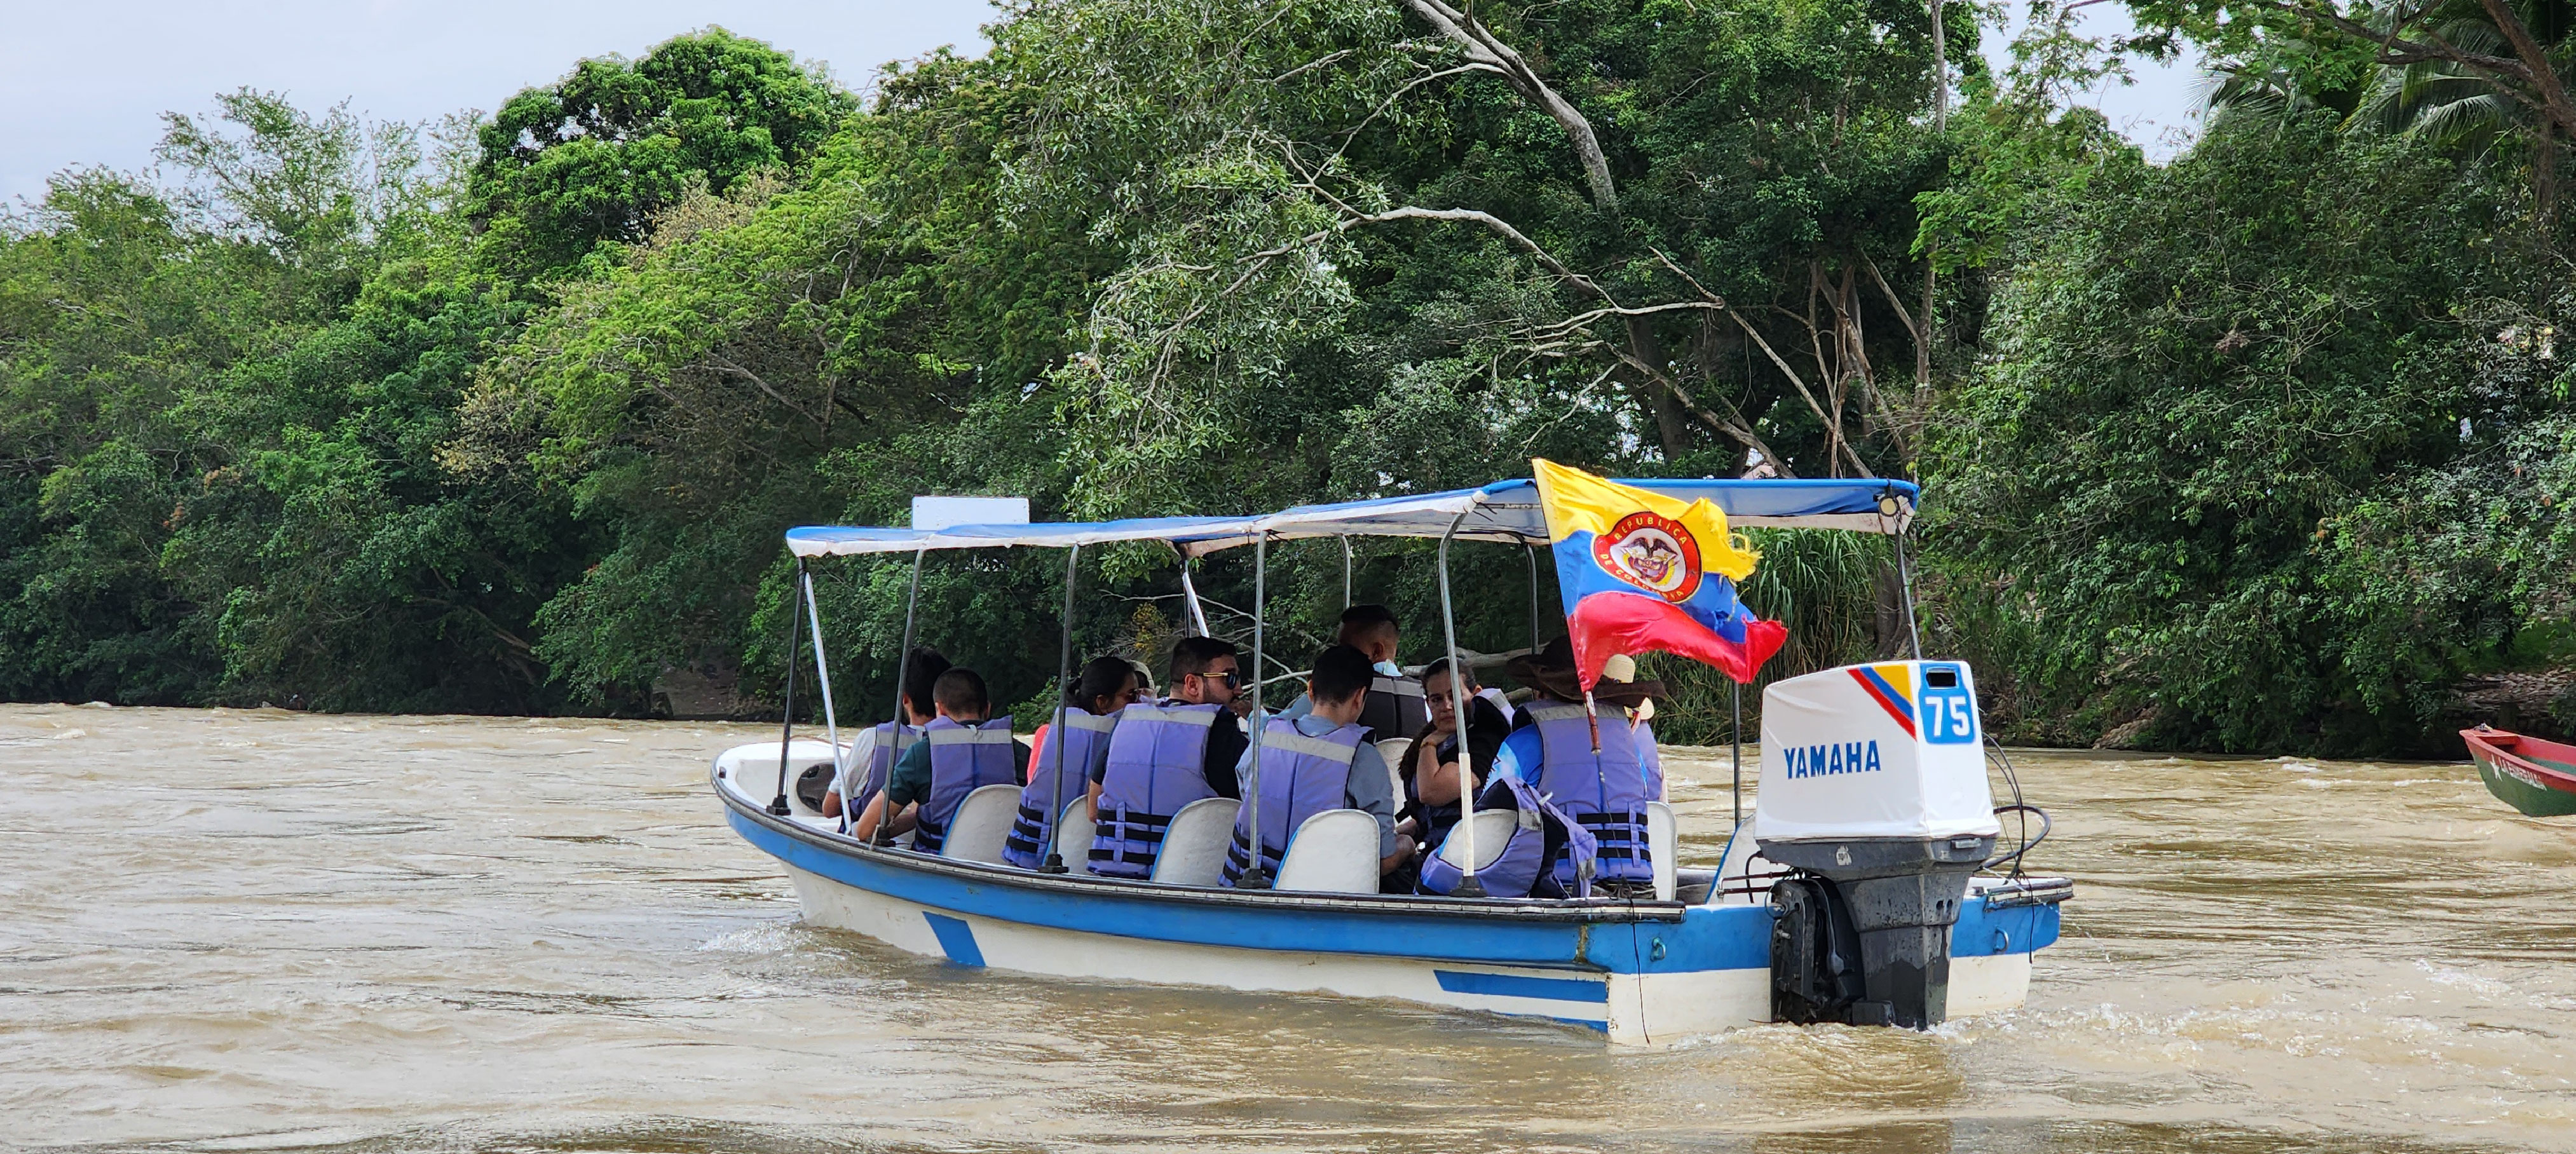
POLYGON ((1133 703, 1118 711, 1110 734, 1108 768, 1100 773, 1100 832, 1092 835, 1092 873, 1144 878, 1162 855, 1162 835, 1172 814, 1198 799, 1213 799, 1208 786, 1208 726, 1226 721, 1226 706, 1164 701, 1133 703))

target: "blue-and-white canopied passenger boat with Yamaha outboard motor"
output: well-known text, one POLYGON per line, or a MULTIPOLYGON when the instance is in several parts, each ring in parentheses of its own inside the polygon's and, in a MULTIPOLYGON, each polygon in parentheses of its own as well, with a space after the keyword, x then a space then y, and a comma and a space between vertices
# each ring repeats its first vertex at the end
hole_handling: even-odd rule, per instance
MULTIPOLYGON (((1883 479, 1620 484, 1682 502, 1705 497, 1731 525, 1893 533, 1899 559, 1917 497, 1914 484, 1883 479)), ((1108 984, 1401 999, 1569 1023, 1615 1046, 1656 1046, 1772 1020, 1937 1025, 2025 1002, 2032 956, 2056 943, 2058 904, 2074 886, 2022 871, 2035 837, 1996 853, 1996 814, 2038 809, 2020 796, 1994 806, 1984 757, 1991 742, 1976 716, 1965 662, 1914 657, 1770 685, 1754 814, 1747 819, 1741 811, 1739 744, 1736 829, 1723 860, 1716 868, 1680 866, 1672 809, 1654 804, 1646 837, 1651 891, 1569 899, 1378 894, 1373 832, 1365 850, 1352 850, 1365 855, 1358 863, 1365 873, 1334 858, 1350 853, 1324 832, 1309 837, 1319 819, 1352 811, 1316 814, 1288 842, 1270 889, 1218 884, 1216 860, 1231 837, 1231 809, 1190 829, 1182 829, 1190 814, 1180 814, 1149 881, 1105 878, 1082 866, 1092 829, 1079 801, 1064 811, 1059 858, 1030 871, 1007 866, 999 853, 1018 811, 1015 786, 971 793, 935 855, 850 837, 788 788, 809 768, 832 768, 850 755, 829 695, 809 572, 814 562, 912 554, 917 592, 920 564, 933 551, 1066 549, 1072 605, 1072 556, 1082 549, 1162 541, 1180 559, 1188 621, 1206 634, 1190 562, 1252 549, 1255 677, 1247 693, 1262 703, 1265 683, 1280 680, 1260 677, 1267 546, 1352 536, 1440 541, 1450 654, 1461 654, 1448 613, 1450 546, 1548 544, 1530 479, 1247 518, 925 523, 917 505, 912 528, 793 528, 786 533, 799 559, 791 598, 799 626, 811 626, 824 734, 796 737, 783 721, 778 742, 721 752, 711 783, 724 819, 781 863, 809 925, 956 966, 1108 984), (1868 801, 1855 806, 1855 791, 1865 791, 1868 801)), ((1533 587, 1535 564, 1530 549, 1533 587)), ((899 652, 909 652, 912 629, 907 610, 899 652)), ((1533 647, 1538 629, 1533 608, 1533 647)), ((799 644, 804 634, 796 629, 799 644)), ((1069 665, 1066 634, 1064 670, 1069 665)), ((788 719, 799 667, 801 657, 791 652, 788 719)), ((1486 858, 1476 845, 1499 850, 1510 819, 1510 811, 1486 811, 1461 822, 1468 847, 1453 863, 1468 878, 1486 858), (1502 819, 1499 829, 1494 819, 1502 819)), ((2045 814, 2040 819, 2045 837, 2045 814)), ((1476 886, 1458 891, 1481 894, 1476 886)))

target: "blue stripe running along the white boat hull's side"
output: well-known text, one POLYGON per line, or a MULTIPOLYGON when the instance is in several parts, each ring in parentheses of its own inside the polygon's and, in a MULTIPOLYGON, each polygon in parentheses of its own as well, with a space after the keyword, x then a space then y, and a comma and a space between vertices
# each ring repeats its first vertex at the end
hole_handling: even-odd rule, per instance
MULTIPOLYGON (((1592 974, 1700 974, 1770 969, 1770 907, 1690 907, 1680 920, 1540 922, 1494 914, 1427 914, 1386 909, 1311 909, 1293 904, 1218 904, 1172 894, 1082 886, 1079 891, 1015 886, 1007 878, 904 868, 873 853, 835 850, 770 829, 734 806, 726 822, 755 847, 806 873, 871 894, 1069 932, 1283 953, 1355 953, 1373 958, 1448 961, 1592 974)), ((933 930, 940 930, 940 917, 933 930)), ((948 922, 956 922, 953 917, 948 922)), ((940 930, 940 948, 971 966, 981 951, 956 922, 963 953, 940 930)), ((2056 907, 1986 909, 1963 902, 1953 956, 2030 953, 2058 938, 2056 907)), ((1540 979, 1530 979, 1540 981, 1540 979)), ((1587 981, 1566 981, 1587 984, 1587 981)), ((1528 994, 1522 994, 1528 997, 1528 994)), ((1607 994, 1602 994, 1607 997, 1607 994)))

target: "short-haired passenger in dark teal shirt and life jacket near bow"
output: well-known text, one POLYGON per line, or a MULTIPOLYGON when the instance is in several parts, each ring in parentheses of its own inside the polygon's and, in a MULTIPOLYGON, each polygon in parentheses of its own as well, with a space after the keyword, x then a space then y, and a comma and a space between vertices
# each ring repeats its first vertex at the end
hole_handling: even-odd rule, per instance
POLYGON ((912 829, 914 850, 940 853, 966 793, 1028 783, 1028 747, 1010 737, 1010 719, 984 719, 992 711, 984 677, 969 667, 943 672, 930 685, 930 706, 938 716, 922 729, 922 744, 894 760, 886 791, 858 814, 853 837, 876 840, 884 829, 891 840, 912 829))

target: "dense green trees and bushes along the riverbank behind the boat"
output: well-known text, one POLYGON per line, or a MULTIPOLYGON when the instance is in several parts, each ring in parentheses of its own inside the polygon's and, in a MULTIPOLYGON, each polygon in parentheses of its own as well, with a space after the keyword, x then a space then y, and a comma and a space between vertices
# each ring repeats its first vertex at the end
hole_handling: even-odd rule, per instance
MULTIPOLYGON (((1551 456, 1924 482, 1924 641, 2025 739, 2576 724, 2568 8, 2022 15, 1989 67, 1911 0, 1033 0, 858 90, 706 28, 446 124, 224 95, 0 234, 0 695, 752 708, 786 525, 1551 456), (2221 67, 2172 162, 2069 103, 2184 41, 2221 67)), ((1783 672, 1893 652, 1883 544, 1765 546, 1783 672)), ((1247 562, 1200 574, 1218 631, 1247 562)), ((1525 644, 1528 556, 1461 562, 1463 641, 1525 644)), ((1273 564, 1306 652, 1345 554, 1273 564)), ((1347 564, 1427 657, 1427 551, 1347 564)), ((891 698, 904 580, 819 577, 842 716, 891 698)), ((1087 649, 1180 626, 1167 556, 1082 582, 1087 649)), ((925 639, 1036 701, 1059 598, 1061 559, 933 559, 925 639)))

